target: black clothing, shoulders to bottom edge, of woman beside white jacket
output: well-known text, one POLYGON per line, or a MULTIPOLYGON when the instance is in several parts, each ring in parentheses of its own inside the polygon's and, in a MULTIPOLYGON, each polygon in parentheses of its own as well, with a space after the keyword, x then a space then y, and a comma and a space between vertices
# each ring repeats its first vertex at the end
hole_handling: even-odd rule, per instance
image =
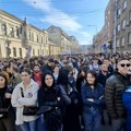
POLYGON ((62 123, 62 109, 64 109, 64 104, 70 103, 70 98, 60 86, 49 88, 41 87, 38 91, 38 107, 53 107, 51 111, 44 114, 49 131, 58 131, 60 129, 62 123))

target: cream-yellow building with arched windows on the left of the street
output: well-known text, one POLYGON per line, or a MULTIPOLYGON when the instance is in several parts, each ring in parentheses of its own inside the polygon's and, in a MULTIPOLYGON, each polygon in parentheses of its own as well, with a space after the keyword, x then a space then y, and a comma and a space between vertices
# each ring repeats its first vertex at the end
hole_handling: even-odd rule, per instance
POLYGON ((48 33, 0 11, 0 57, 49 55, 48 33))

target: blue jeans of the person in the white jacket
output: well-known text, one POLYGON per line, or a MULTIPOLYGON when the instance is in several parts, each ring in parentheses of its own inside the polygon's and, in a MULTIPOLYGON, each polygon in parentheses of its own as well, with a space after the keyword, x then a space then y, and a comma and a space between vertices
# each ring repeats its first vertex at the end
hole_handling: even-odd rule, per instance
POLYGON ((24 122, 21 124, 22 131, 36 131, 36 120, 24 122))

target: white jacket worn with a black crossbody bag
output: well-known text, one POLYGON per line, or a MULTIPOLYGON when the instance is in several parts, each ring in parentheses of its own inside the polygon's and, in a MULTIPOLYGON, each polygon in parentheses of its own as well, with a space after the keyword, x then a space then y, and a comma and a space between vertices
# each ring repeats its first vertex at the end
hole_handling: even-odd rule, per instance
POLYGON ((38 88, 38 84, 34 80, 31 80, 31 84, 26 88, 24 87, 23 82, 17 84, 14 88, 11 104, 13 107, 16 107, 15 124, 23 124, 24 121, 33 121, 37 118, 36 116, 23 116, 23 107, 37 104, 38 88), (22 97, 21 87, 23 88, 24 97, 22 97), (28 97, 28 95, 32 95, 32 97, 28 97))

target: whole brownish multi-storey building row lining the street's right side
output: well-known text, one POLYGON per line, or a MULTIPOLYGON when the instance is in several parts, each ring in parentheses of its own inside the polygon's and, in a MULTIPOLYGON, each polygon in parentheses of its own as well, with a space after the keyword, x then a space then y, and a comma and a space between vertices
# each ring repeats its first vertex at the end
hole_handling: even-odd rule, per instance
POLYGON ((99 32, 102 39, 95 36, 95 50, 99 43, 102 51, 131 51, 131 0, 109 0, 105 10, 105 25, 99 32), (104 28, 104 29, 103 29, 104 28), (106 45, 106 46, 105 46, 106 45))

